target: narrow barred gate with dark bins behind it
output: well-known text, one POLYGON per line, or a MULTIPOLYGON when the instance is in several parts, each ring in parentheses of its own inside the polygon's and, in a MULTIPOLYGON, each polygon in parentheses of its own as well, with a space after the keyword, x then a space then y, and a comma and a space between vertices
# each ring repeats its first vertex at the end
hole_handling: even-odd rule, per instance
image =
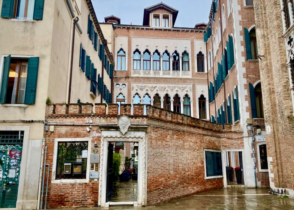
POLYGON ((242 152, 226 152, 226 174, 228 185, 243 185, 242 152))

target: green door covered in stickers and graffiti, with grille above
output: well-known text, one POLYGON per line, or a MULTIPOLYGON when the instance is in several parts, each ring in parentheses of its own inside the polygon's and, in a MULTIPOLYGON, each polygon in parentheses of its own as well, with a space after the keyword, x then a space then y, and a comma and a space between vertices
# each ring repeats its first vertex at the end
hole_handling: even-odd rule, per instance
POLYGON ((0 131, 0 208, 15 208, 24 131, 0 131))

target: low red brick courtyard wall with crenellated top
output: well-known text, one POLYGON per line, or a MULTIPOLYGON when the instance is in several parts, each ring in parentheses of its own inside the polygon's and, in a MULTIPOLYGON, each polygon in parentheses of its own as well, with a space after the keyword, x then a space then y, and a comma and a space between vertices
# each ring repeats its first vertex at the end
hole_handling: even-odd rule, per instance
MULTIPOLYGON (((95 104, 95 113, 81 109, 80 114, 64 113, 63 109, 58 108, 53 114, 54 106, 59 105, 50 104, 47 108, 49 123, 86 123, 89 120, 93 123, 117 123, 120 116, 113 114, 117 112, 117 107, 112 105, 105 109, 102 104, 95 104), (87 113, 83 113, 83 110, 87 113)), ((68 107, 77 110, 79 106, 69 104, 68 107)), ((89 107, 92 108, 90 104, 89 107)), ((233 132, 231 126, 226 126, 223 131, 221 125, 153 106, 147 106, 146 115, 143 115, 144 107, 135 107, 137 111, 134 111, 134 115, 127 114, 131 123, 146 123, 149 127, 146 133, 148 205, 223 187, 222 178, 204 179, 203 149, 242 148, 242 133, 233 132)), ((127 104, 121 107, 121 111, 129 109, 130 105, 127 104)), ((101 138, 93 136, 94 133, 101 132, 99 126, 93 125, 90 132, 86 131, 86 127, 55 125, 53 133, 47 132, 47 163, 52 166, 55 138, 91 137, 91 152, 95 141, 98 142, 97 149, 100 151, 101 138)), ((130 149, 129 146, 126 148, 130 149)), ((48 208, 97 206, 98 181, 90 179, 89 183, 54 184, 51 183, 51 173, 52 171, 49 176, 48 208)))

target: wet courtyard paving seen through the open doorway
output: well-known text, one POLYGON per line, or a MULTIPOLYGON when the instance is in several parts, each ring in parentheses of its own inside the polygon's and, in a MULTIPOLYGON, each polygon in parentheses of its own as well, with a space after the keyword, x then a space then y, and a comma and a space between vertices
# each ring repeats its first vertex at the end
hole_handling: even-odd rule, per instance
POLYGON ((128 182, 117 182, 117 190, 112 195, 110 202, 137 201, 137 180, 128 182))

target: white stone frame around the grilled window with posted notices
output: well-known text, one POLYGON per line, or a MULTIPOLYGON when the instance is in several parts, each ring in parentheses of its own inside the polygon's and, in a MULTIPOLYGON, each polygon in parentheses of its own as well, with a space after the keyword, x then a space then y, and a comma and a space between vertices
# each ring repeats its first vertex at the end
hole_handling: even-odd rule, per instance
POLYGON ((90 175, 90 154, 91 154, 91 140, 92 138, 55 138, 54 139, 54 150, 53 150, 53 164, 52 164, 52 175, 51 183, 89 183, 90 175), (58 154, 58 142, 65 141, 87 141, 88 142, 88 156, 87 156, 87 169, 85 179, 55 179, 56 178, 56 164, 57 164, 57 154, 58 154))

